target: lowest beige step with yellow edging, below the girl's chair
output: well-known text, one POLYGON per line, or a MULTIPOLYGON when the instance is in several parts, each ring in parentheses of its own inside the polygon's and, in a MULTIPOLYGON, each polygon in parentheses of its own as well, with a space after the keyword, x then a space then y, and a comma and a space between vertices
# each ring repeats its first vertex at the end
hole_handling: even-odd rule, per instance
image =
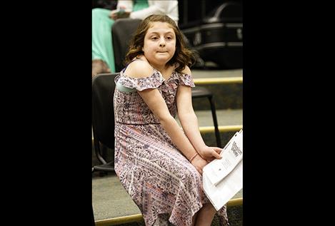
MULTIPOLYGON (((228 210, 239 209, 242 202, 243 190, 229 201, 228 210)), ((92 205, 96 226, 143 221, 139 207, 131 200, 116 175, 92 178, 92 205)))

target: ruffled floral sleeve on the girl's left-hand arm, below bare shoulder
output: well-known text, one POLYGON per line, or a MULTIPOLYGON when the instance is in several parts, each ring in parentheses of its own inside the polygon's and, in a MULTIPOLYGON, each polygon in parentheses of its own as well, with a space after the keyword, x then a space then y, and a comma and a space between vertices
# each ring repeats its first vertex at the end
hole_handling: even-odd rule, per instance
POLYGON ((144 91, 148 88, 158 88, 165 80, 159 73, 154 72, 151 76, 144 78, 131 78, 129 76, 120 75, 116 83, 126 88, 144 91))

